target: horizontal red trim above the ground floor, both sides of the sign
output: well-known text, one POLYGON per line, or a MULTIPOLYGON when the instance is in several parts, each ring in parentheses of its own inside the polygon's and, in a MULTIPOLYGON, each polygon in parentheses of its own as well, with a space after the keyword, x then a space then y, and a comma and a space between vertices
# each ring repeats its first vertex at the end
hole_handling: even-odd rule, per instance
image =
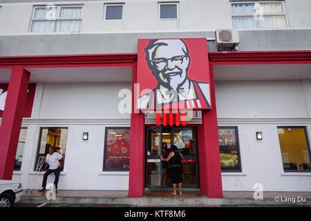
MULTIPOLYGON (((137 53, 6 56, 0 57, 0 68, 14 65, 23 65, 23 68, 133 66, 137 57, 137 53)), ((208 57, 213 64, 305 64, 311 61, 311 50, 209 52, 208 57)))

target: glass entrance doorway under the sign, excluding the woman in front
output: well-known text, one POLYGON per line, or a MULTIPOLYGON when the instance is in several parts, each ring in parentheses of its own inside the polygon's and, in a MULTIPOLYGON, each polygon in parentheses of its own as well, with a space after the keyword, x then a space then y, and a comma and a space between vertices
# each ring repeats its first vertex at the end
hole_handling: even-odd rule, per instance
MULTIPOLYGON (((145 186, 150 189, 171 188, 171 173, 165 171, 160 160, 163 155, 162 144, 167 143, 167 152, 176 145, 182 153, 182 187, 199 188, 198 145, 195 127, 151 126, 146 133, 146 179, 145 186), (165 182, 165 183, 164 183, 165 182)), ((167 154, 168 154, 167 153, 167 154)))

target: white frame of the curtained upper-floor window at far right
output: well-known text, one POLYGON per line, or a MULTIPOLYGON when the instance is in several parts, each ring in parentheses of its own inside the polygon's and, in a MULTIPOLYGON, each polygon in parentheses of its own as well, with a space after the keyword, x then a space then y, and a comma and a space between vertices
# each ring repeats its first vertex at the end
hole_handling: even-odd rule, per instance
MULTIPOLYGON (((290 22, 288 20, 288 12, 286 10, 286 6, 285 6, 285 1, 230 1, 230 10, 231 10, 231 17, 232 17, 232 28, 234 28, 233 25, 233 18, 234 17, 254 17, 254 14, 233 14, 232 12, 232 4, 234 3, 282 3, 283 6, 283 13, 272 13, 272 14, 263 14, 263 17, 265 16, 285 16, 285 20, 286 20, 286 28, 290 28, 290 22)), ((235 28, 238 30, 252 30, 252 29, 259 29, 259 30, 264 30, 264 29, 280 29, 280 28, 235 28)))

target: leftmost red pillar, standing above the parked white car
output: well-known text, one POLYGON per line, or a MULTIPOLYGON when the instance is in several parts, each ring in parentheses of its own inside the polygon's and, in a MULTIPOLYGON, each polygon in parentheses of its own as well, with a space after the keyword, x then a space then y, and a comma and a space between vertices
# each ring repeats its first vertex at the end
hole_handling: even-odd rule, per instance
POLYGON ((12 180, 29 77, 22 67, 12 68, 0 127, 0 180, 12 180))

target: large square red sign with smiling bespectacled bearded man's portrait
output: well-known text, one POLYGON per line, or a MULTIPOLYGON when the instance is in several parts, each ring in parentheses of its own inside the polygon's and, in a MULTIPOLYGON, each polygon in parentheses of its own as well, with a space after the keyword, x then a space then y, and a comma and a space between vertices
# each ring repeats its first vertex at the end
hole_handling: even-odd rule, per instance
POLYGON ((139 39, 140 110, 210 109, 206 39, 139 39))

